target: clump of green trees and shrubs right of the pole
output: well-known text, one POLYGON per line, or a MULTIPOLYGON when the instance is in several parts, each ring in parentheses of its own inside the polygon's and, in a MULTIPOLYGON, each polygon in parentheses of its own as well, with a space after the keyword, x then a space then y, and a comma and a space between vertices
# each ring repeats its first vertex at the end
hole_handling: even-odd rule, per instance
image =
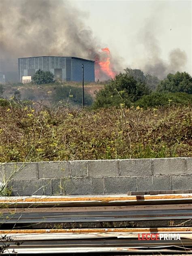
POLYGON ((139 106, 143 108, 192 104, 192 77, 186 72, 169 74, 160 81, 139 69, 125 73, 97 92, 93 107, 139 106))

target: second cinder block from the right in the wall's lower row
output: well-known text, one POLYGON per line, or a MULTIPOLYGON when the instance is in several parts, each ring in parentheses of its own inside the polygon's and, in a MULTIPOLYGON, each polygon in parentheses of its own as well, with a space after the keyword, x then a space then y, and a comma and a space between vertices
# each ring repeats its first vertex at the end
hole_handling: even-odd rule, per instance
POLYGON ((138 191, 171 190, 169 175, 137 177, 138 191))

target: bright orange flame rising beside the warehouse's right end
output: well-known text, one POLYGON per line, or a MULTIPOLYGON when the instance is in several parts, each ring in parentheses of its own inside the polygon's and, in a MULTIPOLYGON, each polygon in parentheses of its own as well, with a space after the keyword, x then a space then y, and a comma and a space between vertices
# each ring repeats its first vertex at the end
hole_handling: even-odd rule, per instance
POLYGON ((98 62, 98 64, 100 65, 100 68, 102 70, 102 72, 104 72, 107 76, 114 78, 115 77, 115 72, 113 72, 112 70, 112 66, 110 63, 110 50, 109 48, 103 48, 101 49, 102 52, 107 53, 107 57, 104 58, 104 60, 98 62))

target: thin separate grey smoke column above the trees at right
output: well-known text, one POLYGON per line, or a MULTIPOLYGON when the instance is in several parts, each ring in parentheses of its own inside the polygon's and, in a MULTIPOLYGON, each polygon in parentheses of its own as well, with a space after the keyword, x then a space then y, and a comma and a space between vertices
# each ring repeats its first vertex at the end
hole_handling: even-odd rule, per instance
POLYGON ((145 73, 163 79, 169 73, 182 71, 187 63, 187 55, 185 51, 177 48, 169 53, 167 62, 161 58, 161 49, 157 39, 160 21, 156 23, 157 19, 157 17, 151 16, 151 18, 145 21, 142 30, 139 31, 139 43, 143 45, 146 56, 145 59, 140 62, 139 68, 145 73))

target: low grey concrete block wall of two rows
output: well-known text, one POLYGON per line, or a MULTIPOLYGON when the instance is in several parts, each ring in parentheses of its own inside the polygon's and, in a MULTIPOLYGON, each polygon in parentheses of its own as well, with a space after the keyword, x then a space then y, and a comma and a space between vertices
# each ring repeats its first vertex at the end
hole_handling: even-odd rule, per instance
POLYGON ((192 158, 2 163, 13 196, 191 190, 192 158))

